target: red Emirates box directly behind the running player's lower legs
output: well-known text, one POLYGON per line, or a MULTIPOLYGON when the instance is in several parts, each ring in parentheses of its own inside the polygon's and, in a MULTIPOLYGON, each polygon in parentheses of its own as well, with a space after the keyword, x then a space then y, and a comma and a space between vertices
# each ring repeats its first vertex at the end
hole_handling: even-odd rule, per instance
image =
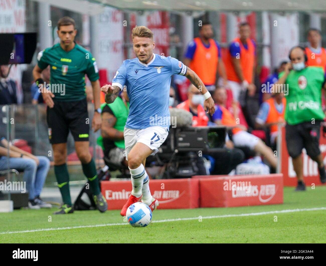
MULTIPOLYGON (((151 179, 149 187, 160 203, 158 209, 199 207, 199 179, 151 179)), ((131 181, 101 181, 101 192, 108 202, 109 210, 121 209, 131 189, 131 181)))

